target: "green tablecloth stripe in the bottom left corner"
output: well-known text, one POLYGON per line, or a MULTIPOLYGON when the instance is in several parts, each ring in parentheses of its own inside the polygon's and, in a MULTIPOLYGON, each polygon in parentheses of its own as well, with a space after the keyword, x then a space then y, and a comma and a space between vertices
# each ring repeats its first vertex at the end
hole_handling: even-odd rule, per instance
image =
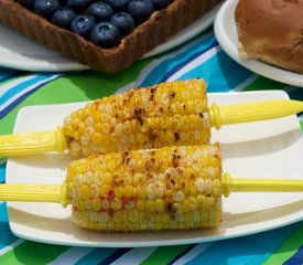
POLYGON ((51 246, 48 244, 25 241, 0 256, 0 264, 44 265, 54 261, 68 248, 69 246, 51 246))

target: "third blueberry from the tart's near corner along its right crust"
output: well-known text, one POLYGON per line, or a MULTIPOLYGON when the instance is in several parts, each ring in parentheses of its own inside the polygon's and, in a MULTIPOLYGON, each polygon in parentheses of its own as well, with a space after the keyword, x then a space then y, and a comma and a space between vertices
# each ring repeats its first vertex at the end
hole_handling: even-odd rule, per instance
POLYGON ((153 4, 150 0, 132 0, 128 4, 128 12, 139 24, 150 18, 153 12, 153 4))

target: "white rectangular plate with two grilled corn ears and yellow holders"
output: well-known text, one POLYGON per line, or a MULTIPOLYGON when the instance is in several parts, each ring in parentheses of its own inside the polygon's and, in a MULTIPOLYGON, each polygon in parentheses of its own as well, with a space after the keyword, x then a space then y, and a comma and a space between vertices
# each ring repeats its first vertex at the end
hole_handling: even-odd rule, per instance
POLYGON ((302 110, 282 91, 206 94, 199 78, 24 107, 14 135, 0 137, 11 150, 0 184, 10 229, 61 245, 142 247, 302 221, 303 137, 293 104, 291 113, 302 110), (260 120, 260 107, 281 115, 260 120), (51 132, 61 124, 64 142, 51 132))

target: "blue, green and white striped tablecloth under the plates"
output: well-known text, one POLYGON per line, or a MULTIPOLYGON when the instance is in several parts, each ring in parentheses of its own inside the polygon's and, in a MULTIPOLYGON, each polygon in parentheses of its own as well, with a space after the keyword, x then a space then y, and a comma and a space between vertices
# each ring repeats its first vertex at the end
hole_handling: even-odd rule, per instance
MULTIPOLYGON (((208 92, 283 89, 303 99, 303 88, 257 75, 238 65, 208 29, 182 46, 143 60, 113 75, 91 71, 33 73, 0 68, 0 135, 13 130, 20 108, 91 100, 160 82, 203 77, 208 92), (37 78, 39 77, 39 78, 37 78), (17 82, 18 81, 18 82, 17 82), (1 91, 10 97, 1 96, 1 91)), ((297 116, 301 127, 303 119, 297 116)), ((291 159, 291 158, 290 158, 291 159)), ((303 159, 302 159, 303 160, 303 159)), ((302 161, 303 162, 303 161, 302 161)), ((303 176, 302 176, 303 177, 303 176)), ((6 161, 0 165, 6 181, 6 161)), ((17 237, 0 202, 0 264, 302 264, 303 223, 209 243, 158 247, 107 248, 51 245, 17 237)))

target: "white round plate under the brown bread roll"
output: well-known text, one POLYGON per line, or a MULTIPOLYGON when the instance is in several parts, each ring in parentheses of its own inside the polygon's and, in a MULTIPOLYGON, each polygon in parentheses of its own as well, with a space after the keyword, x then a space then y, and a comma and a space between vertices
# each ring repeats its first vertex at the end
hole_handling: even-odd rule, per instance
POLYGON ((238 52, 238 35, 235 23, 235 9, 238 0, 227 0, 215 19, 215 35, 221 49, 246 68, 289 85, 303 86, 303 75, 284 71, 256 60, 242 60, 238 52))

